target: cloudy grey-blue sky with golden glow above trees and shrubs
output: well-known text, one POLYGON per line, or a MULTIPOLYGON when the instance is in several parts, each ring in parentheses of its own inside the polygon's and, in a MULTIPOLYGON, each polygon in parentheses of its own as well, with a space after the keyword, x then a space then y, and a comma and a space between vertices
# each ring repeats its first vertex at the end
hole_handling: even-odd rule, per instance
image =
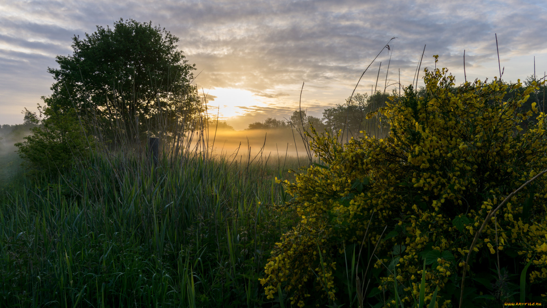
POLYGON ((491 79, 499 75, 494 33, 504 79, 533 74, 534 56, 536 74, 547 70, 544 0, 0 0, 0 124, 22 123, 21 110, 36 110, 51 93, 46 70, 56 67, 56 55, 72 53, 74 35, 120 18, 152 21, 179 37, 179 49, 202 71, 194 83, 236 129, 288 118, 302 82, 302 109, 321 117, 351 95, 392 37, 391 51, 383 50, 357 92, 370 93, 380 62, 379 88, 386 73, 388 84, 398 81, 399 70, 410 84, 424 45, 422 70, 438 54, 463 82, 465 49, 467 79, 491 79))

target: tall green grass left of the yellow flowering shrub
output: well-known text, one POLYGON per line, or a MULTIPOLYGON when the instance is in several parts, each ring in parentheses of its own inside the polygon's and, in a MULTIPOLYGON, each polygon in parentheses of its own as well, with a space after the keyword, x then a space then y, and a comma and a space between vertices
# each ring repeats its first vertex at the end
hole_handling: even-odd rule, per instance
POLYGON ((274 177, 298 160, 179 158, 95 153, 55 181, 12 182, 0 307, 278 305, 258 277, 295 221, 274 177))

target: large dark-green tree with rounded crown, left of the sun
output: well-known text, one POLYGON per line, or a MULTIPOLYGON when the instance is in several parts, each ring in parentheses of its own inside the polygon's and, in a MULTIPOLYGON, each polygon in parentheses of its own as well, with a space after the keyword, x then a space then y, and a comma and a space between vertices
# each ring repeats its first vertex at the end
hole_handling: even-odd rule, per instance
POLYGON ((172 130, 181 121, 189 124, 201 112, 196 87, 190 85, 195 65, 184 60, 179 39, 165 28, 120 19, 113 28, 97 26, 84 39, 72 40, 73 54, 57 56, 59 68, 48 68, 55 83, 45 102, 54 111, 74 109, 88 128, 119 123, 101 125, 110 138, 114 130, 134 138, 135 117, 147 124, 138 130, 143 135, 172 130))

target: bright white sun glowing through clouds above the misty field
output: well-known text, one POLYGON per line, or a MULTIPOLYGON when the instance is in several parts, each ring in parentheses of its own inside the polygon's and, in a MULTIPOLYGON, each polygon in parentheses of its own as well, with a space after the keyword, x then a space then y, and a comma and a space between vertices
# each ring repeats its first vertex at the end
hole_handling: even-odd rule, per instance
POLYGON ((252 92, 243 89, 216 88, 205 94, 212 95, 207 102, 209 114, 218 112, 219 119, 243 116, 253 107, 263 105, 252 92))

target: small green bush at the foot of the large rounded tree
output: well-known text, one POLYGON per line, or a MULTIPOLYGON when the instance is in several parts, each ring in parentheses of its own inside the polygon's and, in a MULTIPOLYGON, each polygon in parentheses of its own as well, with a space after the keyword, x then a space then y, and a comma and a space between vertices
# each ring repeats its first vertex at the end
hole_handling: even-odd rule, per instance
POLYGON ((35 119, 40 126, 31 128, 32 135, 24 142, 18 142, 19 156, 31 175, 53 175, 73 166, 75 159, 88 157, 92 140, 79 123, 73 110, 60 111, 52 107, 38 107, 40 116, 35 119))

